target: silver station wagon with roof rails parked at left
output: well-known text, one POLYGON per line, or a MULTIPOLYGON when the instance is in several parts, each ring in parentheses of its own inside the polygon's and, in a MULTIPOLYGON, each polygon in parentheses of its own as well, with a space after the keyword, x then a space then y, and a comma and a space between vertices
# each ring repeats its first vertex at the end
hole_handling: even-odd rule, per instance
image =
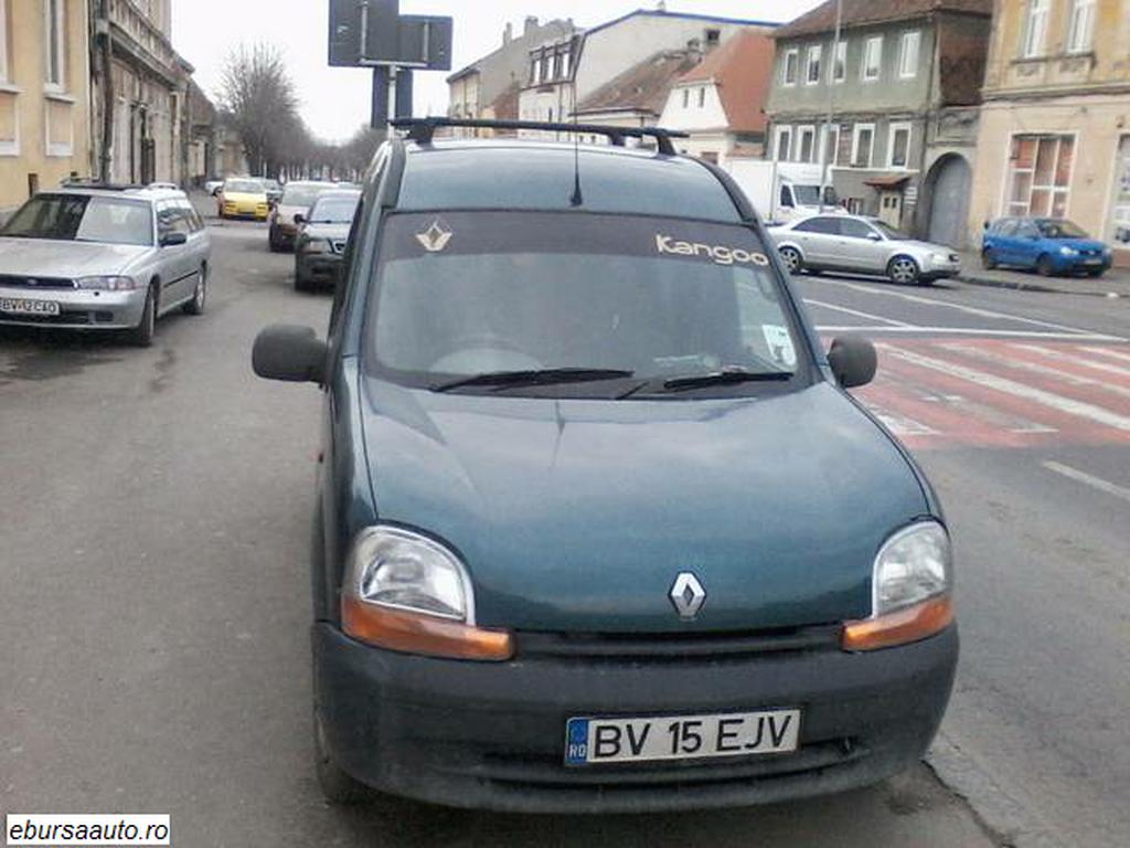
POLYGON ((205 311, 210 265, 182 191, 44 192, 0 228, 0 323, 125 330, 148 346, 160 315, 205 311))

